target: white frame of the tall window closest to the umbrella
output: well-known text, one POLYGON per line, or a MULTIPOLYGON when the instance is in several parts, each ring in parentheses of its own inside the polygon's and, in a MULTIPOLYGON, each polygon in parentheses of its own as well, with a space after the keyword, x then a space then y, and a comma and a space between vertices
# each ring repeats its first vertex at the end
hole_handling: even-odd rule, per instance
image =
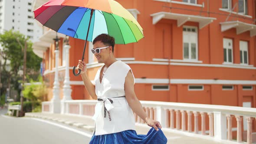
POLYGON ((183 42, 182 42, 182 49, 183 49, 183 59, 187 61, 198 61, 198 29, 196 26, 183 26, 183 28, 194 28, 196 32, 187 32, 187 31, 182 31, 183 34, 183 42), (185 36, 186 35, 186 36, 185 36), (195 41, 191 40, 194 39, 195 41), (190 38, 190 36, 192 38, 190 38), (185 39, 185 37, 189 37, 189 39, 185 39), (188 43, 188 59, 184 58, 184 43, 188 43), (196 59, 191 59, 191 43, 196 43, 196 59))

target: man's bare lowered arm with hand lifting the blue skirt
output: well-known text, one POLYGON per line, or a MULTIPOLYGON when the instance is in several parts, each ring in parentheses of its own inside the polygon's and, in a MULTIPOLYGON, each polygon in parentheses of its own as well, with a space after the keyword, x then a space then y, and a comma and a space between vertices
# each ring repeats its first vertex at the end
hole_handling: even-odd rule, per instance
POLYGON ((125 77, 125 97, 132 111, 134 111, 140 118, 142 118, 148 124, 148 126, 154 127, 154 129, 157 131, 158 128, 162 128, 159 121, 148 118, 145 111, 143 110, 141 102, 135 95, 134 79, 131 71, 129 71, 125 77))

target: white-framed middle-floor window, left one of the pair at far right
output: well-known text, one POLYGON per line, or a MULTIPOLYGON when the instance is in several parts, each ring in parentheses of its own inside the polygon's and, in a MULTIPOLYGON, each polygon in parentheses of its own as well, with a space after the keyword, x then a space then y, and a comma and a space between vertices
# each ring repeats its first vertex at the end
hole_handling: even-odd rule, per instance
POLYGON ((224 62, 233 63, 233 41, 232 39, 223 39, 224 62))

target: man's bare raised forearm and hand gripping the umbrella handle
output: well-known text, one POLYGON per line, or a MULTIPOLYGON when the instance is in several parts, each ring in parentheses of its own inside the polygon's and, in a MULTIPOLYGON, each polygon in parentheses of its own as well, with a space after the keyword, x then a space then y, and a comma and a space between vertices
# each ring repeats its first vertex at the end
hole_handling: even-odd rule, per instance
POLYGON ((76 67, 77 70, 81 69, 81 76, 85 85, 85 88, 89 92, 89 94, 92 96, 93 99, 97 99, 97 95, 95 94, 95 85, 92 84, 91 80, 89 79, 87 75, 87 67, 85 62, 82 60, 79 60, 78 65, 76 67))

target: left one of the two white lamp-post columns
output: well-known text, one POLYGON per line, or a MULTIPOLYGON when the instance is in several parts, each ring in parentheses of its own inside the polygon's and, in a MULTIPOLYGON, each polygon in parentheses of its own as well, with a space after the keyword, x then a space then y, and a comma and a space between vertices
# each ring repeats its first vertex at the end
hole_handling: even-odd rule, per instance
POLYGON ((53 98, 52 98, 52 113, 59 113, 60 112, 60 99, 59 99, 59 49, 55 51, 55 76, 53 82, 53 98))

